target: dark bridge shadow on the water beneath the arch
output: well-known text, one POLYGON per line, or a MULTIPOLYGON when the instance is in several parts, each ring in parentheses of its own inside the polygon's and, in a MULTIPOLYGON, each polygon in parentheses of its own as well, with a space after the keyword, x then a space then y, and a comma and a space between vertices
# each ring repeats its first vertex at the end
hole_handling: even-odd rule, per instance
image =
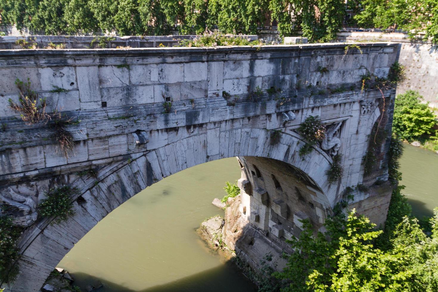
MULTIPOLYGON (((87 285, 92 284, 95 287, 102 282, 103 287, 93 290, 93 292, 255 292, 257 287, 241 273, 238 267, 227 261, 225 264, 215 267, 198 274, 178 279, 163 285, 157 285, 144 290, 132 290, 125 288, 122 285, 115 284, 106 280, 99 279, 95 276, 84 274, 81 272, 75 273, 73 276, 86 280, 87 285), (233 270, 230 273, 230 269, 233 270), (243 279, 244 278, 244 281, 243 279), (233 290, 230 290, 230 283, 233 285, 233 290)), ((74 285, 80 285, 74 283, 74 285)), ((80 285, 83 291, 85 286, 80 285)))

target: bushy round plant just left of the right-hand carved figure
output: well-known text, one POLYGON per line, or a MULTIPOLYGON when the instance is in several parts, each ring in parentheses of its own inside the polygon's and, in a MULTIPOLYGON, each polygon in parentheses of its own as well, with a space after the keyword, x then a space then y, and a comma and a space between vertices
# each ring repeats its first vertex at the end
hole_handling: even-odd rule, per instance
POLYGON ((298 128, 298 132, 306 141, 300 148, 301 157, 312 152, 313 146, 320 143, 325 138, 325 126, 321 123, 319 116, 308 116, 298 128))

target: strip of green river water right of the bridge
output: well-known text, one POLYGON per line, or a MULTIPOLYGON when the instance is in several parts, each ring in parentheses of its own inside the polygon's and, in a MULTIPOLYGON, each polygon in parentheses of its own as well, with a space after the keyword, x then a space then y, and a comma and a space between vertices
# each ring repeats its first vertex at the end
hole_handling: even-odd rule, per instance
POLYGON ((413 215, 431 216, 438 207, 438 155, 433 151, 403 144, 400 171, 403 174, 402 191, 412 204, 413 215))

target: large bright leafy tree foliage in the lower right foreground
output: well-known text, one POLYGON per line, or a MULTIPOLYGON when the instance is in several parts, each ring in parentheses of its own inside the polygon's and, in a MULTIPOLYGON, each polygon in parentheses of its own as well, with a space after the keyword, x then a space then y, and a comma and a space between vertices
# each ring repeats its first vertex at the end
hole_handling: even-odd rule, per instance
POLYGON ((289 241, 299 252, 287 257, 283 272, 274 273, 286 284, 281 291, 437 291, 438 209, 431 237, 416 219, 400 217, 383 250, 374 245, 382 231, 354 213, 328 218, 324 234, 314 235, 303 220, 300 237, 289 241))

